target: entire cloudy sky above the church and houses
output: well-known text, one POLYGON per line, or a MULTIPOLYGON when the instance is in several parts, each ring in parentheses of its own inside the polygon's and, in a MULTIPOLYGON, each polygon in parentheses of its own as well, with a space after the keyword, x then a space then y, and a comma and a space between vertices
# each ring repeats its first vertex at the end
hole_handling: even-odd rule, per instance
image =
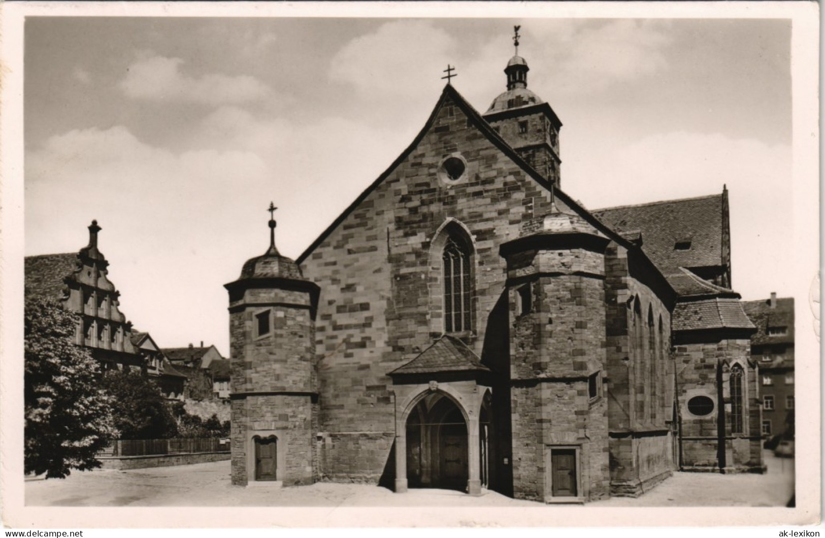
POLYGON ((161 347, 229 352, 243 262, 304 248, 407 147, 455 66, 479 111, 528 86, 589 209, 719 194, 733 288, 791 295, 791 24, 783 19, 29 17, 25 253, 97 219, 120 309, 161 347))

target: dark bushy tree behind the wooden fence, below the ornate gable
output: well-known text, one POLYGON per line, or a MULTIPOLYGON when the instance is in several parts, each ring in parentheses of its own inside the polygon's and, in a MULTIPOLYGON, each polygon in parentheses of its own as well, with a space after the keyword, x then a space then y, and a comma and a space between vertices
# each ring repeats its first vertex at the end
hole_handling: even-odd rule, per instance
POLYGON ((112 414, 120 439, 167 439, 177 423, 158 386, 139 372, 112 370, 103 387, 114 399, 112 414))

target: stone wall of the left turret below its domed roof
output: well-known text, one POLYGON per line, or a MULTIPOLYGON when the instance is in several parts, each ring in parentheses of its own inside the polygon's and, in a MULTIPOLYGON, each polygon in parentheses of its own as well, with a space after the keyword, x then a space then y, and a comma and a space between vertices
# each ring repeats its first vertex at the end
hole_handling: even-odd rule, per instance
POLYGON ((230 303, 233 484, 254 479, 247 475, 247 464, 254 458, 249 437, 256 432, 262 437, 276 432, 277 476, 285 485, 314 481, 317 424, 309 300, 304 291, 272 288, 246 290, 230 303), (271 331, 258 336, 255 314, 265 309, 271 310, 271 331), (255 394, 273 392, 297 394, 255 394))

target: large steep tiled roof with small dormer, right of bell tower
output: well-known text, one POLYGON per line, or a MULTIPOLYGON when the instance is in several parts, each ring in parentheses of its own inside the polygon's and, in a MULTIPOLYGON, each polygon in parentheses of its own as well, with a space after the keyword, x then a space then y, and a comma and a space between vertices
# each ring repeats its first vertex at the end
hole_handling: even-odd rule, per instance
POLYGON ((676 267, 723 265, 722 205, 723 195, 714 195, 609 207, 592 214, 619 233, 641 230, 642 250, 667 272, 676 267), (690 248, 676 250, 676 242, 686 240, 690 248))

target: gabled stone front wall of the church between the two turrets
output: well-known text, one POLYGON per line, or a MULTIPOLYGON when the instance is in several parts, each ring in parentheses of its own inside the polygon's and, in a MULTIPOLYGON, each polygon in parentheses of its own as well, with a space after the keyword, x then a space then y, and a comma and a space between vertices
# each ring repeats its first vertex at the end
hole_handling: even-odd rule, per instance
MULTIPOLYGON (((497 343, 485 342, 488 314, 505 291, 498 245, 517 237, 522 220, 548 212, 549 203, 549 192, 447 96, 408 157, 302 263, 304 276, 321 286, 315 343, 323 431, 365 440, 394 433, 387 373, 413 360, 443 328, 441 252, 431 252, 431 245, 448 219, 469 229, 474 246, 474 325, 461 336, 485 356, 485 345, 497 343), (448 184, 437 171, 452 153, 460 153, 467 168, 463 179, 448 184)), ((356 474, 382 472, 389 445, 381 443, 374 455, 361 455, 370 472, 356 474)), ((360 444, 325 444, 326 472, 347 475, 348 447, 360 444)))

